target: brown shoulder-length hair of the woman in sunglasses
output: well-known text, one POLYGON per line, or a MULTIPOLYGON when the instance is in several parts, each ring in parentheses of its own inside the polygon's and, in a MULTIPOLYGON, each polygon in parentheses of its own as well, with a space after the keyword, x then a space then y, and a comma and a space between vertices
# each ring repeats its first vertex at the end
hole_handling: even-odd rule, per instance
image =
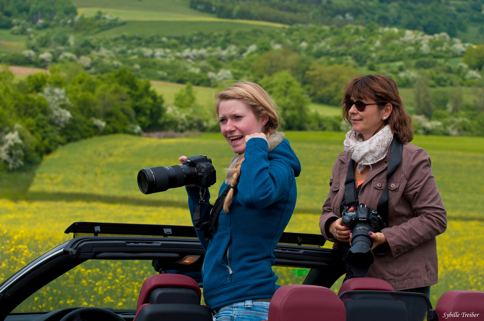
MULTIPOLYGON (((413 139, 412 117, 405 110, 402 98, 398 93, 398 88, 392 78, 381 74, 367 74, 348 82, 343 92, 343 119, 351 125, 348 108, 344 101, 347 99, 363 100, 373 99, 375 102, 391 103, 393 110, 390 116, 384 120, 385 125, 390 125, 393 133, 398 135, 398 139, 403 144, 413 139)), ((385 104, 378 104, 381 110, 385 104)))

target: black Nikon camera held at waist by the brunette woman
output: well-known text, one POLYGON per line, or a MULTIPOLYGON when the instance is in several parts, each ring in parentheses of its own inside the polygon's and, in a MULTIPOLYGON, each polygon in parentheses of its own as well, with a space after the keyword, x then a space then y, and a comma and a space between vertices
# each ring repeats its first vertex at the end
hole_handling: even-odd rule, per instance
POLYGON ((373 239, 368 232, 379 232, 386 227, 386 224, 377 211, 370 211, 366 205, 360 205, 354 212, 343 211, 341 213, 341 225, 353 230, 348 262, 356 277, 364 277, 368 273, 370 265, 375 261, 371 250, 373 239))

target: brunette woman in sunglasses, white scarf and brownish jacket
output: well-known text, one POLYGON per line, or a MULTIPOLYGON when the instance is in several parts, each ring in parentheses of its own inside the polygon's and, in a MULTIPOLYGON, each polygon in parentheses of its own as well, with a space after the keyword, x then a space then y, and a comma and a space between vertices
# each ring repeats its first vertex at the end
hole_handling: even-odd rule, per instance
POLYGON ((430 286, 437 283, 438 275, 435 237, 447 226, 430 157, 423 148, 409 143, 413 139, 411 117, 391 78, 374 74, 351 80, 343 102, 343 118, 352 128, 346 134, 345 151, 333 166, 328 199, 319 219, 321 233, 334 242, 333 248, 342 251, 346 279, 354 277, 347 262, 352 231, 341 222, 342 211, 354 210, 348 208, 344 198, 348 166, 354 160, 356 204, 376 210, 387 185, 392 141, 397 139, 403 144, 403 152, 398 169, 388 181, 389 225, 377 233, 369 232, 372 249, 383 245, 386 252, 375 254, 366 276, 388 281, 395 291, 430 296, 430 286))

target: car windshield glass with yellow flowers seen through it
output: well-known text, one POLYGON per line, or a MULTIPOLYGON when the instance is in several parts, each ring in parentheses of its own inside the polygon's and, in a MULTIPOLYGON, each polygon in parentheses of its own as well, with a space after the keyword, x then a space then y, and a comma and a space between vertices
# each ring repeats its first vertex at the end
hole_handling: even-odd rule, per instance
MULTIPOLYGON (((278 285, 302 284, 308 273, 308 269, 282 266, 274 266, 272 270, 279 277, 278 285)), ((143 281, 153 274, 156 272, 151 260, 88 260, 49 282, 12 312, 79 306, 135 310, 143 281)))

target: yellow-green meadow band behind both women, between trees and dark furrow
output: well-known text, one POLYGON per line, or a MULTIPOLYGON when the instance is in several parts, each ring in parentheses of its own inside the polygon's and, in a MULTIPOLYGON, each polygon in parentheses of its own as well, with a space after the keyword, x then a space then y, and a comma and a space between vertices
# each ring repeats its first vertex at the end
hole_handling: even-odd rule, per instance
MULTIPOLYGON (((297 179, 296 212, 320 212, 327 197, 336 155, 342 151, 344 132, 287 132, 302 165, 297 179)), ((420 136, 413 141, 432 159, 434 175, 450 218, 484 219, 482 182, 484 138, 420 136)), ((150 139, 129 135, 96 137, 63 146, 45 157, 37 169, 30 193, 37 197, 123 197, 136 202, 185 206, 185 191, 172 189, 144 195, 136 185, 141 168, 175 165, 181 155, 206 154, 218 170, 217 189, 232 155, 220 134, 195 138, 150 139), (139 200, 139 201, 138 201, 139 200)))

